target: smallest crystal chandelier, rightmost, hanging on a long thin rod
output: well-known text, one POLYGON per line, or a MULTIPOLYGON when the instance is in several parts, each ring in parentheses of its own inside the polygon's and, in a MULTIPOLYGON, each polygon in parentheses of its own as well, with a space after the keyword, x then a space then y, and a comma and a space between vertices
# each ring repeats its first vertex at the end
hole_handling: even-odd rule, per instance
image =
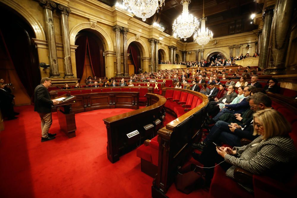
POLYGON ((203 15, 201 21, 201 30, 198 29, 197 32, 194 34, 194 42, 197 42, 198 45, 206 45, 213 37, 214 34, 208 28, 205 29, 205 21, 207 18, 204 18, 204 0, 203 0, 203 15))

